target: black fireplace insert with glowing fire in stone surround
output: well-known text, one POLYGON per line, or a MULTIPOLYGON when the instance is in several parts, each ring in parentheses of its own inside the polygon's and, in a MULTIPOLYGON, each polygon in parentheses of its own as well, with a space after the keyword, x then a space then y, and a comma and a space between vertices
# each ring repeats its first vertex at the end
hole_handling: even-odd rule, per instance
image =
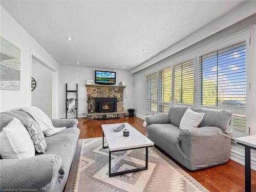
POLYGON ((95 97, 94 98, 94 111, 95 113, 98 112, 116 112, 117 110, 117 98, 110 97, 110 98, 102 98, 102 97, 95 97))

